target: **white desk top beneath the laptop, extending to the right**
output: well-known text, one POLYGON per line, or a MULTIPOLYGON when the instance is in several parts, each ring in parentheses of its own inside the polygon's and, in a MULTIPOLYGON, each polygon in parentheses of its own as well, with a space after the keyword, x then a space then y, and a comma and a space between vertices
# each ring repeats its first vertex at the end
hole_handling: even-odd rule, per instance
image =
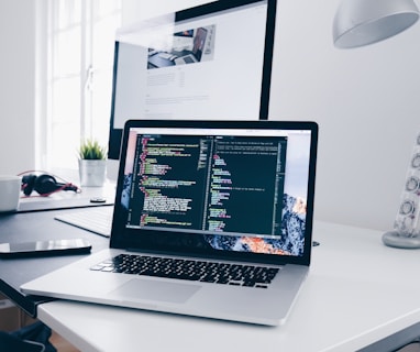
POLYGON ((420 251, 387 248, 380 237, 317 222, 321 245, 277 328, 70 301, 41 305, 38 318, 84 352, 356 351, 420 322, 420 251))

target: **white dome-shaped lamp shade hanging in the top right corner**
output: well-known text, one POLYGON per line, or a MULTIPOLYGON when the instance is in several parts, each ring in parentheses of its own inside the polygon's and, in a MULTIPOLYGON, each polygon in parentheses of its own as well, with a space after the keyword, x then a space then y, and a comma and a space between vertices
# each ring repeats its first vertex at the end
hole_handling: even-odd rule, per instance
POLYGON ((333 22, 334 45, 341 48, 383 41, 419 19, 413 0, 343 0, 333 22))

